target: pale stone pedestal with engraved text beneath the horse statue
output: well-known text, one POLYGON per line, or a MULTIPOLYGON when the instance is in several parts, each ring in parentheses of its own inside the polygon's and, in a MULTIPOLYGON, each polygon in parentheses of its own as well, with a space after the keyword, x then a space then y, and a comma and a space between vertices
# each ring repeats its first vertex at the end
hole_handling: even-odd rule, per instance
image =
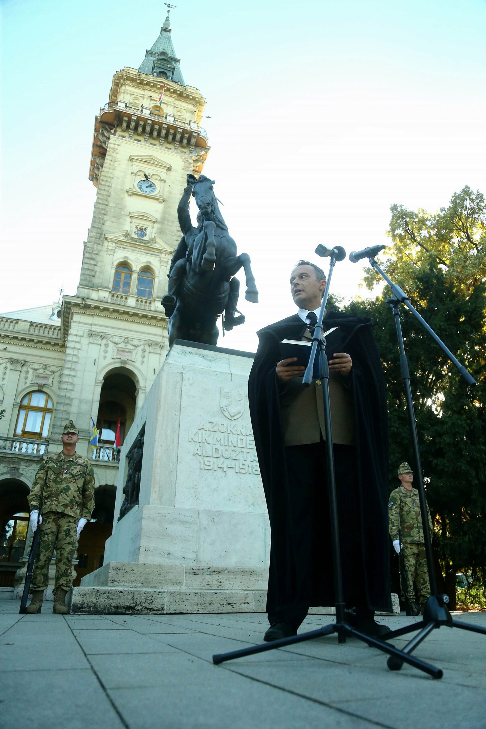
POLYGON ((105 564, 71 612, 264 610, 270 524, 248 412, 253 356, 176 343, 120 456, 144 432, 138 505, 116 522, 105 564))

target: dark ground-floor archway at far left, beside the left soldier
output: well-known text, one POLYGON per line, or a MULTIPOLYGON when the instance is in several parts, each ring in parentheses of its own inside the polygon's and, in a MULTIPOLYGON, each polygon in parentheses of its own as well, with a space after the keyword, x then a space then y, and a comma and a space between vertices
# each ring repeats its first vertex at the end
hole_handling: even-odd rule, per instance
POLYGON ((12 588, 26 547, 28 486, 22 481, 0 482, 0 587, 12 588))

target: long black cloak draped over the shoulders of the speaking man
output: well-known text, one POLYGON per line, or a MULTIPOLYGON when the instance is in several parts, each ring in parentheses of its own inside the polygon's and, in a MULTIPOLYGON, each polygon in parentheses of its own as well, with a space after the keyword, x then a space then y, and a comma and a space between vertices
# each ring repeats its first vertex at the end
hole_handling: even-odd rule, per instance
MULTIPOLYGON (((280 395, 275 367, 282 359, 278 343, 300 340, 305 323, 297 314, 257 332, 259 347, 248 380, 248 402, 256 452, 272 530, 267 612, 299 601, 291 585, 299 570, 291 543, 291 509, 283 439, 280 395)), ((372 336, 372 321, 363 316, 330 311, 324 329, 339 326, 342 349, 353 360, 351 370, 358 502, 361 517, 361 555, 367 607, 391 611, 388 545, 388 412, 385 381, 372 336)), ((340 488, 337 483, 337 489, 340 488)), ((312 515, 310 515, 309 528, 312 515)), ((345 525, 340 523, 340 529, 345 525)), ((330 562, 330 556, 329 556, 330 562)), ((346 566, 343 565, 343 569, 346 566)), ((310 605, 334 604, 332 569, 322 579, 315 574, 310 605), (325 601, 323 603, 323 601, 325 601)), ((308 596, 307 596, 308 598, 308 596)))

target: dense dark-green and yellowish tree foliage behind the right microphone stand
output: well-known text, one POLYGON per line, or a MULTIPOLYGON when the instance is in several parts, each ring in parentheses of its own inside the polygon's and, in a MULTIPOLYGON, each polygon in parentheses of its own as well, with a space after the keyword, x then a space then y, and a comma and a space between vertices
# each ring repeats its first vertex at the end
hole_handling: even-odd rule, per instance
MULTIPOLYGON (((456 572, 471 572, 474 586, 486 588, 485 199, 465 187, 434 215, 393 205, 388 233, 393 249, 383 269, 478 382, 466 386, 430 335, 401 307, 434 548, 444 577, 439 588, 453 599, 456 572)), ((369 289, 378 278, 370 269, 365 277, 369 289)), ((396 466, 412 459, 412 448, 393 314, 385 303, 390 296, 385 286, 374 300, 356 300, 348 310, 375 320, 388 382, 395 488, 396 466)))

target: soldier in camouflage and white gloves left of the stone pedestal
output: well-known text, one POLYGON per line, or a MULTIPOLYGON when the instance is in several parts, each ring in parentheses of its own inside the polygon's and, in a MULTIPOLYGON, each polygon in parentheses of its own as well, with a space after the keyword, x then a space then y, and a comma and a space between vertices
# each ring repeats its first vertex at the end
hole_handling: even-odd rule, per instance
POLYGON ((41 523, 39 551, 34 562, 32 601, 27 612, 41 612, 49 565, 55 550, 54 611, 65 614, 66 594, 73 586, 72 559, 79 534, 95 507, 95 475, 88 459, 78 456, 79 431, 70 420, 63 429, 63 450, 39 466, 28 495, 31 526, 41 523), (39 506, 41 515, 39 515, 39 506))

